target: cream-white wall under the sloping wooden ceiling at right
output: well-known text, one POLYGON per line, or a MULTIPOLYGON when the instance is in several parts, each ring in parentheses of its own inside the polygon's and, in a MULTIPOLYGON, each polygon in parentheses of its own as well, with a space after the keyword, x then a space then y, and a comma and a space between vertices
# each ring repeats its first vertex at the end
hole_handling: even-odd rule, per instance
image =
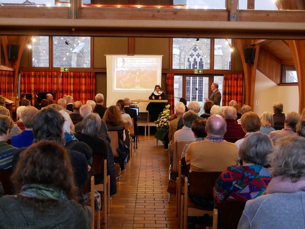
POLYGON ((267 76, 256 70, 254 90, 254 112, 260 116, 265 111, 273 114, 274 102, 283 104, 283 113, 289 111, 299 112, 299 89, 298 86, 278 86, 267 76), (259 105, 256 105, 256 101, 259 105))

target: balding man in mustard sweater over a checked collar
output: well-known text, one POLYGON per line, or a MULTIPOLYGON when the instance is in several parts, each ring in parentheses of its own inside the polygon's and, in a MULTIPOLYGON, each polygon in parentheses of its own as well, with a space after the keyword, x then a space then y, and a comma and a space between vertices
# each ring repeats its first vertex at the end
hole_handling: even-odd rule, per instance
POLYGON ((224 140, 226 127, 220 115, 208 118, 206 139, 191 143, 186 151, 185 162, 191 164, 190 172, 223 172, 237 164, 237 146, 224 140))

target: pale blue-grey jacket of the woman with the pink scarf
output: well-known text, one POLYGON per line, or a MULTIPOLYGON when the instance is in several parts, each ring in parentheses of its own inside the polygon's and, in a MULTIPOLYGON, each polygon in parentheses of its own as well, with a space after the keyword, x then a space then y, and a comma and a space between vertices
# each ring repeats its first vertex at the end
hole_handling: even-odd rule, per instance
POLYGON ((274 193, 246 202, 238 229, 305 228, 305 192, 274 193))

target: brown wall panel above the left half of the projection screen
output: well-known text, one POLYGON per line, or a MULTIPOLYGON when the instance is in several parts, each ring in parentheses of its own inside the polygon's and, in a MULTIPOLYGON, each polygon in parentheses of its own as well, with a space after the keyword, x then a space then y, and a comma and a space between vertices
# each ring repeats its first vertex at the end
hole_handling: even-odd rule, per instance
POLYGON ((127 37, 94 37, 93 38, 93 67, 106 68, 105 55, 127 55, 127 37))

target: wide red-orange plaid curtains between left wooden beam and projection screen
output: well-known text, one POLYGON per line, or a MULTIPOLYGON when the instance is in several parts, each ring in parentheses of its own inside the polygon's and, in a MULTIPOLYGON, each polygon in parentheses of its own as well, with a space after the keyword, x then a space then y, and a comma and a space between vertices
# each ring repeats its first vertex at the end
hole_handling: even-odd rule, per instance
POLYGON ((21 92, 31 93, 31 89, 37 95, 38 92, 57 93, 56 100, 67 94, 72 96, 74 101, 86 104, 87 100, 94 100, 95 73, 21 71, 21 92))

